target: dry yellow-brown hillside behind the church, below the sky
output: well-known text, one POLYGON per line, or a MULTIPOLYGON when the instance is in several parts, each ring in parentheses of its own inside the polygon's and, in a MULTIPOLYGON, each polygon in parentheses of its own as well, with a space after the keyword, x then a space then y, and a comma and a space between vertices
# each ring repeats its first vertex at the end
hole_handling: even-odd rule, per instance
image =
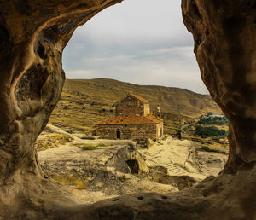
POLYGON ((50 123, 64 128, 91 130, 97 121, 114 114, 113 103, 128 92, 143 96, 150 102, 151 109, 160 105, 163 113, 189 117, 198 117, 207 112, 220 113, 210 96, 190 90, 137 85, 105 78, 67 79, 50 123))

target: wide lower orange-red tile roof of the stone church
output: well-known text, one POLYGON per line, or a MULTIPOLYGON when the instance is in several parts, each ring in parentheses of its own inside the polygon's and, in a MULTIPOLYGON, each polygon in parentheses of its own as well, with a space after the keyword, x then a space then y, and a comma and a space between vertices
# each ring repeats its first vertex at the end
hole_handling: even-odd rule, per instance
POLYGON ((159 124, 161 121, 155 119, 154 116, 116 116, 110 119, 103 120, 96 125, 113 125, 113 124, 159 124))

